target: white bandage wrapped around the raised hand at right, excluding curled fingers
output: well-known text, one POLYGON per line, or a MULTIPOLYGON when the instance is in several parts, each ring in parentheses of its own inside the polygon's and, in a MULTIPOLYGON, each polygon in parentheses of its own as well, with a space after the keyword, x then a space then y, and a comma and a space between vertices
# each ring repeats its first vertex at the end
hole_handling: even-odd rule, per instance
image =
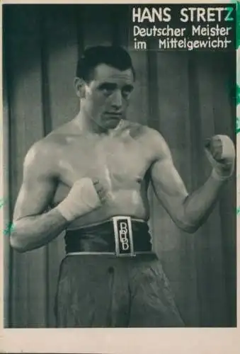
POLYGON ((219 161, 215 160, 209 149, 205 148, 207 159, 212 164, 212 177, 217 181, 225 181, 234 172, 235 148, 232 140, 227 135, 216 135, 222 142, 222 154, 219 161))

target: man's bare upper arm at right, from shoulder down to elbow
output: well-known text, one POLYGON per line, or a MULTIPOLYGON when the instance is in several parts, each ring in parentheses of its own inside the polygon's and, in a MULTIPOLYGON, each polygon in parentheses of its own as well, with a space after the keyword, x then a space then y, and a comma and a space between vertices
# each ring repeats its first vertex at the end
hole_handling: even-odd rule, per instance
POLYGON ((173 221, 178 222, 178 215, 183 209, 183 202, 188 192, 181 176, 173 164, 171 152, 159 133, 154 133, 156 159, 151 167, 151 181, 156 197, 165 207, 173 221))

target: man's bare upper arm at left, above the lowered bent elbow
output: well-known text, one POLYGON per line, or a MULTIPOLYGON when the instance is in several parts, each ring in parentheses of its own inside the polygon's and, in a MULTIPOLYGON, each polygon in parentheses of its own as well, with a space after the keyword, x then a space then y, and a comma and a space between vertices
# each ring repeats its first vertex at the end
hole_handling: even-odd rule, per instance
POLYGON ((56 179, 49 152, 49 149, 37 143, 25 156, 23 183, 16 200, 14 220, 40 215, 50 205, 56 189, 56 179))

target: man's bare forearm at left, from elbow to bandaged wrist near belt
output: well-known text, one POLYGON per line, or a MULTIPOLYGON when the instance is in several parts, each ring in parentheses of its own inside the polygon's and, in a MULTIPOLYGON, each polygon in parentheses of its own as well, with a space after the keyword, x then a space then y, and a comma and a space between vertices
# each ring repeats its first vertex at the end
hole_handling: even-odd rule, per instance
POLYGON ((55 239, 68 224, 57 209, 42 215, 23 217, 13 221, 11 246, 20 252, 38 249, 55 239))

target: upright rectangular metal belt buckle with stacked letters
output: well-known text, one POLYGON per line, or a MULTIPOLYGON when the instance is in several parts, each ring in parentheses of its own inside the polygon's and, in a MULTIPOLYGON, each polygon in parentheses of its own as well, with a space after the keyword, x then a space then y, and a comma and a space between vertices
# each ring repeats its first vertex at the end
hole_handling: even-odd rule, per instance
POLYGON ((135 255, 132 238, 131 217, 113 217, 115 252, 118 257, 135 255))

